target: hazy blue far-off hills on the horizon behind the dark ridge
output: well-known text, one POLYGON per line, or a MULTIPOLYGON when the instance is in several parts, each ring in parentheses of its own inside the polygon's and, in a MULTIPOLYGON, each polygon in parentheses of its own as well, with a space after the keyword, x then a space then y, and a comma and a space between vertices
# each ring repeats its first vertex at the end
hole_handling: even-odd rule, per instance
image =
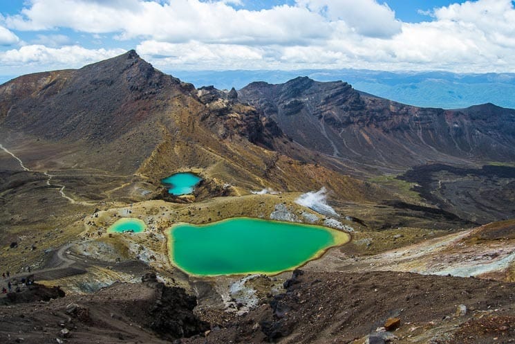
POLYGON ((418 107, 461 109, 491 102, 515 108, 515 73, 456 74, 449 72, 385 72, 358 69, 297 71, 170 71, 196 87, 241 89, 264 81, 281 84, 297 76, 317 81, 342 80, 355 89, 418 107))

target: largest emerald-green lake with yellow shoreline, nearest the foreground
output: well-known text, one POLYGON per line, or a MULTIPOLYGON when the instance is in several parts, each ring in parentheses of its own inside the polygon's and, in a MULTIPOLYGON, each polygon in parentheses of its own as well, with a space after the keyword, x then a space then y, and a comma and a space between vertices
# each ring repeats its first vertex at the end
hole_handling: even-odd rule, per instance
POLYGON ((279 273, 348 242, 347 233, 321 226, 236 217, 170 230, 171 261, 192 275, 279 273))

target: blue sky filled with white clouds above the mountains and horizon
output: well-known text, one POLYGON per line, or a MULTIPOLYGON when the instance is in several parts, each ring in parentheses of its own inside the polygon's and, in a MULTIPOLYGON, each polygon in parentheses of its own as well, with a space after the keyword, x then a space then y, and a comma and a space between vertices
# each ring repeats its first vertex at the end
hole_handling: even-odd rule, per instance
POLYGON ((135 49, 162 71, 515 72, 510 0, 0 0, 0 75, 135 49))

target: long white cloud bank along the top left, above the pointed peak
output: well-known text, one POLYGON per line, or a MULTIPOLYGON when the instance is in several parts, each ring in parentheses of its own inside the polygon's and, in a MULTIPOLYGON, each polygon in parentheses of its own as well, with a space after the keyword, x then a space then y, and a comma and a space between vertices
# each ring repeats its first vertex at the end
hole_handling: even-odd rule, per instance
POLYGON ((171 43, 196 39, 214 44, 306 44, 330 34, 330 25, 317 13, 297 6, 249 11, 235 10, 223 1, 119 2, 32 0, 20 15, 6 17, 6 24, 17 30, 66 27, 117 33, 118 39, 143 37, 171 43))

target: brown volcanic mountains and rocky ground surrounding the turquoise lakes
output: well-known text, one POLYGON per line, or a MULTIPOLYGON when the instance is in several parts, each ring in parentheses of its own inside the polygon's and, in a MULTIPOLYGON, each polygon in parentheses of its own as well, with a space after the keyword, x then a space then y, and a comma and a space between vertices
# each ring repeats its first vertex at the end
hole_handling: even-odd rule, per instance
POLYGON ((0 85, 0 342, 512 343, 514 204, 514 109, 197 89, 135 51, 24 75, 0 85), (175 224, 235 217, 350 240, 274 275, 174 264, 175 224))

